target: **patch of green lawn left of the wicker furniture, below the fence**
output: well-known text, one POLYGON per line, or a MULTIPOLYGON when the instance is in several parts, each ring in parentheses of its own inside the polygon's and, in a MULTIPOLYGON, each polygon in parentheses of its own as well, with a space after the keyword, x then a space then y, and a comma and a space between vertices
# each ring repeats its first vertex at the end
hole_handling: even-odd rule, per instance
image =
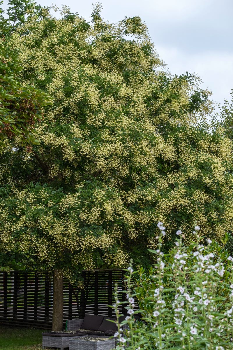
POLYGON ((42 350, 43 331, 0 325, 0 350, 42 350))

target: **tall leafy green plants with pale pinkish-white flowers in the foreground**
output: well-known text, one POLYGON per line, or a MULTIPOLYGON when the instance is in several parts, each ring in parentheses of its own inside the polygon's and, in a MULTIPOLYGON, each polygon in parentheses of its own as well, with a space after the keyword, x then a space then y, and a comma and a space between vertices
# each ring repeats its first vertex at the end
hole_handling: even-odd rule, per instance
POLYGON ((174 248, 164 254, 165 227, 158 223, 158 228, 158 246, 151 250, 157 255, 154 267, 134 272, 131 261, 126 301, 119 302, 115 292, 117 320, 120 304, 127 303, 128 315, 118 322, 117 349, 232 349, 233 258, 216 241, 199 235, 197 225, 194 243, 185 246, 179 229, 174 248), (124 324, 128 330, 122 330, 124 324))

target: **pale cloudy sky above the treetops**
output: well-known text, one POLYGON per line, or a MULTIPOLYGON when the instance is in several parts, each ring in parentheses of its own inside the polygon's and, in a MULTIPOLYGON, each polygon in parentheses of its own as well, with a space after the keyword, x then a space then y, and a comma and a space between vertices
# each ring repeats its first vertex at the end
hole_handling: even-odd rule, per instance
MULTIPOLYGON (((37 0, 70 6, 90 20, 95 0, 37 0)), ((139 15, 155 48, 172 74, 201 76, 214 101, 223 103, 233 88, 233 0, 102 0, 103 18, 110 22, 139 15)))

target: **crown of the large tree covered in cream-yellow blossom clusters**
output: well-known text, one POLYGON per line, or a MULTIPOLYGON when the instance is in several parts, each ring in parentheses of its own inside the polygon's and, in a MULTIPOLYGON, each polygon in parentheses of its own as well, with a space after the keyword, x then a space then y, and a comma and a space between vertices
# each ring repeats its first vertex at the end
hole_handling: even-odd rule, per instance
MULTIPOLYGON (((8 44, 21 78, 53 98, 27 154, 12 142, 0 160, 4 266, 60 271, 148 264, 156 223, 189 235, 232 228, 231 144, 208 131, 208 92, 171 77, 139 17, 113 25, 63 9, 30 16, 8 44)), ((61 280, 61 279, 60 279, 61 280)))

